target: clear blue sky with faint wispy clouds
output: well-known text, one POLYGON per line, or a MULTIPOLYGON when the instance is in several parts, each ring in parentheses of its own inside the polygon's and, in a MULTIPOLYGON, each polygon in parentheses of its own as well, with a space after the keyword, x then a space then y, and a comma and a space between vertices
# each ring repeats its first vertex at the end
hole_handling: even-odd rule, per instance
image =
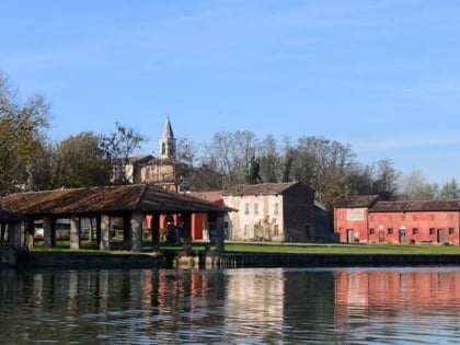
POLYGON ((61 140, 115 123, 158 152, 251 130, 349 143, 427 182, 460 180, 460 1, 0 2, 0 70, 51 104, 61 140))

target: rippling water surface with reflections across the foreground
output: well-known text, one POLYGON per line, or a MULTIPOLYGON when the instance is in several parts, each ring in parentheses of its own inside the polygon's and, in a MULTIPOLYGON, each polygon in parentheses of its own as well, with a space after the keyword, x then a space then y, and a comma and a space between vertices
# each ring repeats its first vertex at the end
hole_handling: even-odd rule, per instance
POLYGON ((439 344, 459 268, 0 271, 1 344, 439 344))

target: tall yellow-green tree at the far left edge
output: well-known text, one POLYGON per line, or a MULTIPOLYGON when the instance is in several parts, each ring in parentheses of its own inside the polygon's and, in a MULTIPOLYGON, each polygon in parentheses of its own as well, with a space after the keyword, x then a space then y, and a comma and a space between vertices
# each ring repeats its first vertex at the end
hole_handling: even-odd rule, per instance
POLYGON ((49 105, 41 95, 25 102, 0 72, 0 194, 27 189, 31 164, 43 150, 49 105))

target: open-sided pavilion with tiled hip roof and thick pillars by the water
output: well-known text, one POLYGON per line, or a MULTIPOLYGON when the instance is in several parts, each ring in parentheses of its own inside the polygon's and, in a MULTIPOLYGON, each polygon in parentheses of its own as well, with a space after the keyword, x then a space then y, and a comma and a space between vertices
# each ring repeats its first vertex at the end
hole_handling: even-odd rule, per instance
POLYGON ((184 229, 184 248, 191 245, 192 215, 210 214, 216 219, 216 246, 223 251, 223 216, 231 208, 168 192, 149 184, 71 188, 45 192, 16 193, 2 198, 1 207, 14 215, 27 217, 28 232, 33 233, 34 220, 43 219, 44 245, 56 244, 56 220, 70 219, 70 248, 80 248, 80 221, 96 219, 96 240, 101 250, 110 249, 110 220, 123 218, 125 249, 140 252, 142 223, 148 217, 151 249, 160 244, 160 216, 181 215, 184 229))

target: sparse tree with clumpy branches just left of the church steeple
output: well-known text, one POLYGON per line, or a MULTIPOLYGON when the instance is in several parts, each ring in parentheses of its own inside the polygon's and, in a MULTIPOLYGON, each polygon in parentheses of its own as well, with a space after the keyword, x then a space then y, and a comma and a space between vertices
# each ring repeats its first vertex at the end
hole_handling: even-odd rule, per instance
POLYGON ((129 157, 141 148, 147 138, 134 128, 115 124, 116 130, 108 136, 101 136, 100 147, 112 166, 118 172, 115 176, 116 183, 129 184, 134 176, 133 171, 127 169, 129 157))

